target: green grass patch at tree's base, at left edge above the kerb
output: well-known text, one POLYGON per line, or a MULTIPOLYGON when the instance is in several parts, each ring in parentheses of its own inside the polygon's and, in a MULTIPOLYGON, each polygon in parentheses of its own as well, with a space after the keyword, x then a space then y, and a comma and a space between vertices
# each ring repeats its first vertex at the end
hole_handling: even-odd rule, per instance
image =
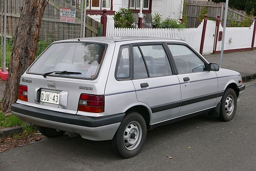
POLYGON ((13 114, 11 116, 5 116, 0 112, 0 127, 7 128, 15 126, 23 126, 23 122, 13 114))

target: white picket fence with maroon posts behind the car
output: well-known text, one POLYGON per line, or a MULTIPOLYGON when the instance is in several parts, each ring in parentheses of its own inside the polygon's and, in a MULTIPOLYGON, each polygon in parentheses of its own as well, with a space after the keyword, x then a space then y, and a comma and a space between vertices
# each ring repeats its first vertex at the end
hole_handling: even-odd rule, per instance
MULTIPOLYGON (((197 28, 184 29, 148 29, 148 28, 114 28, 109 24, 106 36, 140 36, 158 37, 184 40, 194 47, 200 49, 204 21, 197 28)), ((227 27, 224 43, 224 50, 250 48, 253 38, 254 23, 250 27, 227 27)), ((203 54, 213 52, 215 40, 216 21, 207 20, 207 28, 204 39, 203 54)), ((220 25, 219 31, 223 31, 220 25)), ((256 40, 254 43, 256 47, 256 40)), ((217 42, 217 51, 221 50, 221 41, 217 42)))

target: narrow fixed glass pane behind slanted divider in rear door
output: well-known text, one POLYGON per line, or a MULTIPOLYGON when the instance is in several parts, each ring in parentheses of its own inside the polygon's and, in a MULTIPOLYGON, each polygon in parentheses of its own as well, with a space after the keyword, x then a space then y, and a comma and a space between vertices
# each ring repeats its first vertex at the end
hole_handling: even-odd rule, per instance
POLYGON ((148 78, 148 72, 145 67, 143 57, 140 53, 138 46, 133 47, 133 57, 134 57, 134 79, 148 78))

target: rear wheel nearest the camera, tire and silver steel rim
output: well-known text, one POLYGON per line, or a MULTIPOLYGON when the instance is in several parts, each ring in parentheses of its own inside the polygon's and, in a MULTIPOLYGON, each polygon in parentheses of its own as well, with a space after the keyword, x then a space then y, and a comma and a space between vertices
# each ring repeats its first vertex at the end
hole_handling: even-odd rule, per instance
POLYGON ((122 120, 112 139, 112 148, 123 158, 131 158, 140 153, 146 139, 147 127, 140 113, 129 113, 122 120))

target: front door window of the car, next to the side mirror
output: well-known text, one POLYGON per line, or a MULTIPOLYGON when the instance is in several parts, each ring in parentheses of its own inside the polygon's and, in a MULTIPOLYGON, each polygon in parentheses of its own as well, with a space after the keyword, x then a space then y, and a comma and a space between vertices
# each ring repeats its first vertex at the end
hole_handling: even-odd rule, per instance
POLYGON ((204 61, 185 45, 168 45, 179 74, 206 71, 204 61))

